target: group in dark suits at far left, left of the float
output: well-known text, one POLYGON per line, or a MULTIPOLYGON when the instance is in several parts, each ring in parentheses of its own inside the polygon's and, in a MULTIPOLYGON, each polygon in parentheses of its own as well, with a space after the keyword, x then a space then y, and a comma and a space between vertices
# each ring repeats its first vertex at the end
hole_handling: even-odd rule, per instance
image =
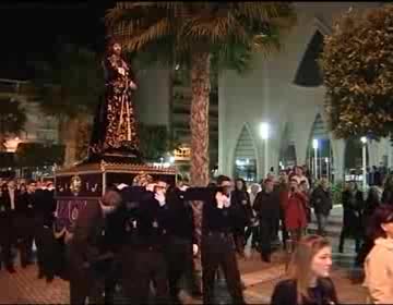
POLYGON ((38 278, 53 280, 51 249, 55 220, 55 187, 51 181, 0 181, 0 267, 15 272, 13 251, 20 252, 21 267, 33 264, 37 248, 38 278))

